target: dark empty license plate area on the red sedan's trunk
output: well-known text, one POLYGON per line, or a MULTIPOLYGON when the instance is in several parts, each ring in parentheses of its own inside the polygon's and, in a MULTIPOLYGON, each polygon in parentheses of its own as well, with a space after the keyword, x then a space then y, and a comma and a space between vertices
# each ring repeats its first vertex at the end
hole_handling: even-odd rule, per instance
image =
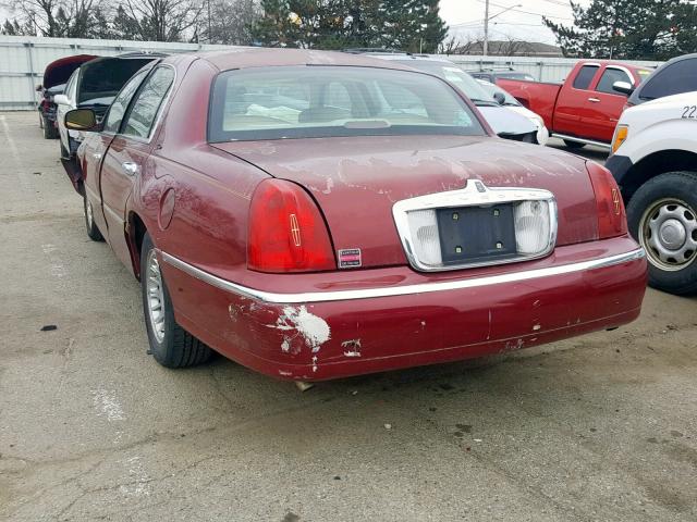
POLYGON ((512 203, 438 209, 436 213, 443 264, 517 256, 512 203))

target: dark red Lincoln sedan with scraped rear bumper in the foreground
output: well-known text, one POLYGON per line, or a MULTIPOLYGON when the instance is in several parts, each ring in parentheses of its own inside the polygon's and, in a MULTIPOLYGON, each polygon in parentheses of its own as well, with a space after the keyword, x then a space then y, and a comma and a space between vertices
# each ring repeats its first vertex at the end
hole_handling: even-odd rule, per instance
POLYGON ((244 49, 140 70, 78 151, 85 223, 139 278, 150 351, 296 381, 454 361, 637 318, 609 172, 496 137, 445 80, 244 49))

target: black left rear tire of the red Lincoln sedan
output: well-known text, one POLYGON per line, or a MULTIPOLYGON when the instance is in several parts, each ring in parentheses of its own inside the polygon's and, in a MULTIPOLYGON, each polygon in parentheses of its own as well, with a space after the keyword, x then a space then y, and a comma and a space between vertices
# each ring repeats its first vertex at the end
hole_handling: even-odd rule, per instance
POLYGON ((170 293, 160 272, 159 263, 157 262, 155 246, 147 233, 143 238, 143 247, 140 249, 140 289, 148 343, 150 345, 150 353, 155 360, 167 368, 193 366, 206 362, 212 353, 211 349, 182 328, 174 320, 174 310, 172 300, 170 299, 170 293), (152 259, 151 257, 155 259, 157 269, 151 269, 149 265, 152 259), (164 322, 160 327, 160 334, 156 334, 155 332, 155 320, 150 312, 150 298, 148 295, 148 278, 156 276, 154 270, 157 270, 159 273, 159 285, 162 290, 160 296, 164 322))

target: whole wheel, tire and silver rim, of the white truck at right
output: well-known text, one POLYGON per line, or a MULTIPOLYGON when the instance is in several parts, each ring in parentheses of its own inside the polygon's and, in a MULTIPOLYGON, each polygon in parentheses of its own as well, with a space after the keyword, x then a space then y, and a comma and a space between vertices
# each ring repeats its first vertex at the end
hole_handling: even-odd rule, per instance
POLYGON ((649 285, 697 293, 697 173, 669 172, 641 185, 627 206, 629 232, 646 250, 649 285))

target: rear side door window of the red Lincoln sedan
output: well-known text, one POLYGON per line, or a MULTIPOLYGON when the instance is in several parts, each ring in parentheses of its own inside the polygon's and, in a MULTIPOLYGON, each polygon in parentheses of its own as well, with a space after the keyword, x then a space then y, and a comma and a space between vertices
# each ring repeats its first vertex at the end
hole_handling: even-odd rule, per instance
POLYGON ((157 67, 136 95, 122 134, 148 139, 164 97, 174 82, 171 67, 157 67))

